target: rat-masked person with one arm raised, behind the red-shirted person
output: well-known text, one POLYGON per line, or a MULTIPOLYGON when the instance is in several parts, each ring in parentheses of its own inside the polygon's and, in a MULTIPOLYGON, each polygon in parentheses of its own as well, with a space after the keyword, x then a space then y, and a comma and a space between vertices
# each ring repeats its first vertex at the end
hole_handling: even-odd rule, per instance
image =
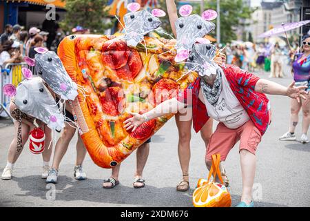
MULTIPOLYGON (((201 17, 199 15, 191 15, 192 6, 185 5, 180 8, 179 14, 181 15, 181 17, 178 18, 176 4, 174 3, 174 0, 166 0, 166 3, 172 31, 177 38, 176 50, 178 54, 176 55, 176 61, 182 61, 184 57, 188 57, 188 54, 192 50, 192 46, 194 43, 199 41, 207 41, 207 39, 203 39, 203 37, 205 37, 205 35, 214 30, 215 25, 211 22, 211 20, 215 19, 216 16, 209 18, 203 16, 211 10, 206 10, 205 12, 203 12, 203 15, 201 17)), ((216 57, 216 60, 220 63, 222 63, 225 59, 225 55, 222 55, 221 53, 219 53, 219 55, 216 57)), ((190 106, 188 106, 186 113, 188 113, 188 111, 192 111, 190 106)), ((179 136, 178 157, 183 172, 183 179, 176 186, 177 191, 189 190, 189 160, 191 155, 190 131, 192 127, 192 119, 184 120, 183 115, 184 114, 181 113, 176 114, 176 126, 178 127, 179 136)), ((209 119, 200 130, 200 135, 203 138, 206 147, 212 134, 212 125, 213 120, 209 119)), ((220 168, 224 178, 223 180, 225 182, 225 186, 228 186, 229 180, 225 175, 225 169, 222 165, 220 166, 220 168)))

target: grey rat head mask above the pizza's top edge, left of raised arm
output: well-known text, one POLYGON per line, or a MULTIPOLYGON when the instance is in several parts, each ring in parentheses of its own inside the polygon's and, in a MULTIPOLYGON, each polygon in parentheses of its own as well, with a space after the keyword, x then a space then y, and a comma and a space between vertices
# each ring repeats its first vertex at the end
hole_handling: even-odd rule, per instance
POLYGON ((161 21, 158 17, 165 16, 165 12, 161 9, 154 9, 152 13, 147 10, 141 10, 138 3, 130 3, 127 6, 127 10, 130 10, 124 16, 125 21, 125 41, 127 41, 128 46, 137 46, 138 43, 143 41, 144 35, 152 32, 159 26, 161 26, 161 21))

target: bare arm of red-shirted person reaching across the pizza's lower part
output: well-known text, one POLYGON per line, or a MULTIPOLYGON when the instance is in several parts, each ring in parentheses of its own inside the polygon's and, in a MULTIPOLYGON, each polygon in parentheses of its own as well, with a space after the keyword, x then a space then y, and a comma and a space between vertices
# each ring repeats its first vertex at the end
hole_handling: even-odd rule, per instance
POLYGON ((167 115, 169 113, 177 113, 185 108, 186 104, 183 102, 179 102, 178 99, 172 98, 167 101, 159 104, 151 111, 140 115, 138 113, 132 113, 134 117, 125 120, 125 129, 130 130, 132 128, 132 132, 136 130, 138 126, 140 126, 143 122, 148 121, 149 119, 154 119, 156 117, 161 117, 163 115, 167 115))

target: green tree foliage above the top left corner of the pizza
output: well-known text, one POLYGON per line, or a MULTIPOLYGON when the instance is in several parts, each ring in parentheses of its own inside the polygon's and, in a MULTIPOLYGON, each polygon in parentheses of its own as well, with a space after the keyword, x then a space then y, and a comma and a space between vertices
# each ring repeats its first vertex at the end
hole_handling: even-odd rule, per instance
POLYGON ((65 10, 67 13, 61 27, 69 32, 76 26, 82 26, 92 33, 102 34, 114 23, 114 19, 106 22, 107 0, 66 0, 65 10))

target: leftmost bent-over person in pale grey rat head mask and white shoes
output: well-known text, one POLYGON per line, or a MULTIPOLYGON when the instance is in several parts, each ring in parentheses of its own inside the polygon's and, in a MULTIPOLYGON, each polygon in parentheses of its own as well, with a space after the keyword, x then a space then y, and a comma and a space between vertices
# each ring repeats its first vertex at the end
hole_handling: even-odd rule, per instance
POLYGON ((56 108, 54 97, 41 78, 32 79, 31 76, 22 81, 17 89, 12 84, 8 84, 4 86, 3 91, 5 95, 14 96, 10 102, 10 113, 16 120, 14 121, 15 134, 8 153, 8 163, 1 178, 3 180, 12 178, 14 164, 21 154, 30 132, 34 128, 42 128, 45 133, 45 148, 42 153, 43 172, 41 177, 45 179, 50 169, 52 129, 59 129, 63 126, 61 123, 63 116, 56 108))

